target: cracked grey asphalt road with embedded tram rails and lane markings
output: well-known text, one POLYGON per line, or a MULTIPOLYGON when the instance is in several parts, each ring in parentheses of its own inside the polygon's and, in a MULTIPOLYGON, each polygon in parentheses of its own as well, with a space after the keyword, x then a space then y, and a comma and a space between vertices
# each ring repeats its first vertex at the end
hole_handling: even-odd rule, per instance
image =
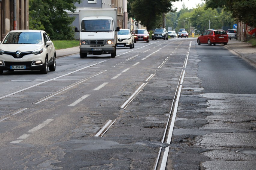
POLYGON ((193 38, 4 72, 0 169, 253 169, 236 151, 256 148, 255 81, 224 45, 193 38))

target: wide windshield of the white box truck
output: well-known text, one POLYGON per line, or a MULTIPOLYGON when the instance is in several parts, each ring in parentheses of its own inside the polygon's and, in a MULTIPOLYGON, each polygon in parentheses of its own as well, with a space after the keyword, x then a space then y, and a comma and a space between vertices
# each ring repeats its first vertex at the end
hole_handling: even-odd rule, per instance
POLYGON ((112 20, 83 20, 81 32, 109 32, 114 31, 112 20))

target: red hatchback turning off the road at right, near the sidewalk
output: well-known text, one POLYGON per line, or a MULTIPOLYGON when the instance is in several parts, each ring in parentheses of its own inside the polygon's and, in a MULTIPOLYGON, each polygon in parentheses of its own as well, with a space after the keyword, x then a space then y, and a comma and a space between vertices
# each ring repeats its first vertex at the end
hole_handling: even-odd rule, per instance
POLYGON ((228 43, 228 35, 224 30, 206 30, 197 38, 198 45, 207 44, 216 45, 228 43))

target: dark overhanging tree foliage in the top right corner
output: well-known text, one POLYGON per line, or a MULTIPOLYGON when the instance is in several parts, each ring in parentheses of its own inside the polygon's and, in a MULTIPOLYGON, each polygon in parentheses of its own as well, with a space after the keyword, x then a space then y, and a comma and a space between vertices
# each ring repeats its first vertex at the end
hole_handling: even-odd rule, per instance
POLYGON ((256 1, 255 0, 205 0, 207 8, 223 7, 230 11, 232 17, 250 26, 256 27, 256 1))

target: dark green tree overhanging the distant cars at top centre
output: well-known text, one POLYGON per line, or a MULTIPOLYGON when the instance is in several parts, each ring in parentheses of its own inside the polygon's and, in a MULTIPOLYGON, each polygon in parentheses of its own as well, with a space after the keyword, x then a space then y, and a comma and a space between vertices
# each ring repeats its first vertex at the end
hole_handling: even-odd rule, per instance
POLYGON ((159 27, 163 13, 174 12, 171 1, 175 0, 129 0, 130 12, 148 30, 159 27))

